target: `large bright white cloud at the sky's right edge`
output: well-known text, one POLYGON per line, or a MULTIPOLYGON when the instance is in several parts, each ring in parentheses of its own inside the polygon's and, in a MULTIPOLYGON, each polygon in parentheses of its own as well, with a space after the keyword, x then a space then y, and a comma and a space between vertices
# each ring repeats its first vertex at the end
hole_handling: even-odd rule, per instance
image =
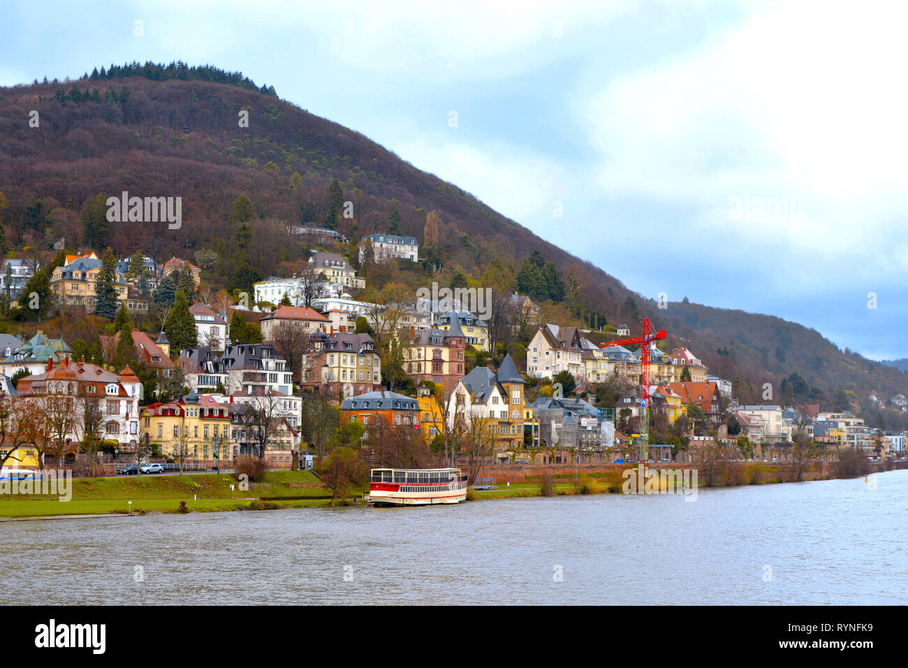
POLYGON ((830 263, 849 259, 833 280, 903 272, 906 18, 892 3, 751 5, 708 43, 592 96, 587 78, 575 114, 602 155, 599 192, 694 205, 685 232, 706 264, 733 264, 708 257, 721 239, 730 256, 768 253, 778 285, 822 291, 830 263), (804 216, 735 224, 730 202, 745 196, 801 202, 804 216))

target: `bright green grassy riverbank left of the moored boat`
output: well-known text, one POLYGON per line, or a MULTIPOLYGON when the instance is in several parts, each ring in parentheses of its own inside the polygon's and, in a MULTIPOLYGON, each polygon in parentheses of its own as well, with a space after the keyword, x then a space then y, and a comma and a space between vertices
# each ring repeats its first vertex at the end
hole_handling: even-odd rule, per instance
POLYGON ((331 491, 309 471, 271 471, 242 491, 230 474, 75 478, 72 499, 0 494, 0 518, 128 513, 179 513, 323 506, 331 491), (231 484, 235 489, 231 491, 231 484))

